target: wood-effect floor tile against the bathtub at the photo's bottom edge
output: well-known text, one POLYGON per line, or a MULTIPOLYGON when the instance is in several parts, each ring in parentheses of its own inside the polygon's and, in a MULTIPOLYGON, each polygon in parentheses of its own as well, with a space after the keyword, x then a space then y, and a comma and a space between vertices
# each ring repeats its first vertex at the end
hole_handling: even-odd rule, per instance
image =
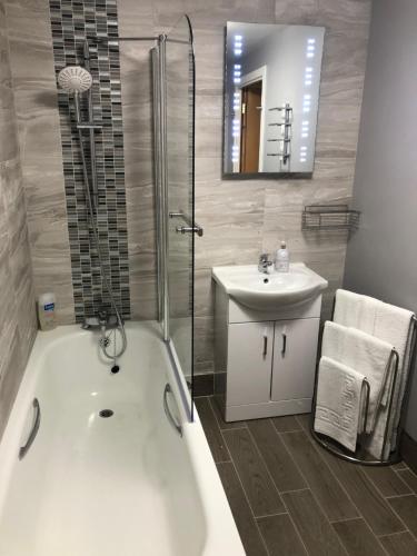
POLYGON ((234 464, 218 464, 217 469, 247 556, 267 556, 268 553, 234 464))

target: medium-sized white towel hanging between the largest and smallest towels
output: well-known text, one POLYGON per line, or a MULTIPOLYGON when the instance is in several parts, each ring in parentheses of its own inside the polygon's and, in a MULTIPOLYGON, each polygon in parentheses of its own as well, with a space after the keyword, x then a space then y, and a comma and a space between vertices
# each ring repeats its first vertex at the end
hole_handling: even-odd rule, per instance
POLYGON ((327 321, 321 354, 360 373, 369 383, 366 433, 374 430, 391 367, 393 345, 356 328, 327 321))

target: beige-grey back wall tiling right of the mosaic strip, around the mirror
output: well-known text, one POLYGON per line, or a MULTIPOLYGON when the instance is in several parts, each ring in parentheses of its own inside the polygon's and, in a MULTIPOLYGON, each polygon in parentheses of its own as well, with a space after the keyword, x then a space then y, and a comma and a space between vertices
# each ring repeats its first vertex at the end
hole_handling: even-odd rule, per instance
MULTIPOLYGON (((370 0, 118 0, 121 36, 168 31, 187 12, 197 61, 196 219, 197 371, 212 371, 215 265, 255 264, 286 238, 292 260, 325 276, 330 287, 324 316, 341 284, 345 234, 301 232, 305 203, 351 196, 363 96, 370 0), (326 27, 316 168, 311 180, 221 179, 224 29, 227 21, 326 27)), ((155 222, 151 172, 151 43, 121 47, 126 188, 132 315, 155 315, 155 222), (135 285, 135 288, 133 288, 135 285)))

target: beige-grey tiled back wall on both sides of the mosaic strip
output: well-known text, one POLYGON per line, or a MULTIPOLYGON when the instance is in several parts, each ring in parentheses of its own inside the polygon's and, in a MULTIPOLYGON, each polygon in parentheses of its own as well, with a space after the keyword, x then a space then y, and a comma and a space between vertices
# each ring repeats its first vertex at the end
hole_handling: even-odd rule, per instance
MULTIPOLYGON (((341 282, 346 236, 304 235, 305 203, 351 195, 370 0, 118 0, 119 32, 168 31, 189 13, 197 58, 197 370, 212 370, 214 265, 256 262, 286 237, 292 260, 330 281, 326 312, 341 282), (326 27, 316 169, 312 180, 221 179, 222 64, 226 21, 326 27)), ((50 36, 49 0, 8 0, 12 70, 37 292, 54 289, 61 321, 73 319, 70 251, 50 36), (37 26, 33 26, 33 20, 37 26), (42 136, 42 141, 38 138, 42 136)), ((151 139, 151 42, 120 49, 130 304, 133 318, 156 315, 151 139)))

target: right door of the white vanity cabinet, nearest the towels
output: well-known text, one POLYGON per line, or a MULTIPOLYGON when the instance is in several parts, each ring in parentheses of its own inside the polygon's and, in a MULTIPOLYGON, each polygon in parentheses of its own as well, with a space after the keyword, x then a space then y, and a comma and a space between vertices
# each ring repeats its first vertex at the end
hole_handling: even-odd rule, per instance
POLYGON ((320 319, 275 322, 271 400, 312 398, 320 319))

